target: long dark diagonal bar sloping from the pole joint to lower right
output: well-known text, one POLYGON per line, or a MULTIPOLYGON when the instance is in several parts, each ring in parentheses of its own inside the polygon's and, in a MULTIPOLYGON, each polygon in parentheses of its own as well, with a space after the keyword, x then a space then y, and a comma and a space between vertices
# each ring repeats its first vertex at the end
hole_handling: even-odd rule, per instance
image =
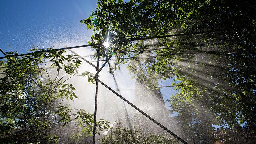
POLYGON ((125 99, 124 97, 122 97, 120 94, 118 94, 117 92, 115 92, 113 89, 111 89, 109 86, 107 86, 106 84, 104 84, 102 81, 98 80, 99 83, 101 83, 103 86, 105 86, 107 89, 109 89, 110 91, 112 91, 114 94, 116 94, 118 97, 120 97, 122 100, 124 100, 125 102, 127 102, 129 105, 131 105, 133 108, 135 108, 137 111, 139 111, 141 114, 143 114, 144 116, 146 116, 147 118, 149 118, 151 121, 153 121, 155 124, 157 124, 158 126, 160 126, 161 128, 163 128, 165 131, 167 131, 168 133, 170 133, 172 136, 174 136, 175 138, 177 138, 178 140, 180 140, 182 143, 184 144, 188 144, 185 140, 183 140, 182 138, 180 138, 179 136, 177 136, 175 133, 173 133, 172 131, 170 131, 169 129, 167 129, 165 126, 163 126, 162 124, 160 124, 159 122, 157 122, 155 119, 153 119, 152 117, 150 117, 149 115, 147 115, 145 112, 143 112, 141 109, 139 109, 138 107, 136 107, 134 104, 132 104, 131 102, 129 102, 127 99, 125 99))

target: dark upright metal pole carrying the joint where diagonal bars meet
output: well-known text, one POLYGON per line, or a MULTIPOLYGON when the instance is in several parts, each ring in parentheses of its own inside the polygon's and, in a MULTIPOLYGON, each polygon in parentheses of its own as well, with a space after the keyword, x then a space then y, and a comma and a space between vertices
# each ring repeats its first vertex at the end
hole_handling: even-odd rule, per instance
POLYGON ((100 59, 100 48, 98 47, 98 56, 97 56, 97 73, 95 75, 96 80, 96 89, 95 89, 95 104, 94 104, 94 119, 93 119, 93 136, 92 144, 95 144, 95 134, 96 134, 96 114, 97 114, 97 98, 98 98, 98 80, 99 80, 99 59, 100 59))

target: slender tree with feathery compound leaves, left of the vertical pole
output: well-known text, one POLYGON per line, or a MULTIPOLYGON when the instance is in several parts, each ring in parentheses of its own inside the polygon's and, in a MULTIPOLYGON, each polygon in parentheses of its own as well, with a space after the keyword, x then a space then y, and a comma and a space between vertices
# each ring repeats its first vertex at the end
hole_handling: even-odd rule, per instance
MULTIPOLYGON (((74 122, 81 134, 91 135, 94 115, 71 108, 67 101, 78 97, 67 80, 77 74, 81 61, 65 51, 31 49, 29 56, 9 57, 0 79, 0 132, 5 143, 57 143, 52 126, 74 122)), ((10 52, 8 55, 17 54, 10 52)), ((96 133, 108 128, 108 121, 96 122, 96 133)), ((77 129, 78 130, 78 129, 77 129)), ((79 131, 76 131, 79 132, 79 131)))

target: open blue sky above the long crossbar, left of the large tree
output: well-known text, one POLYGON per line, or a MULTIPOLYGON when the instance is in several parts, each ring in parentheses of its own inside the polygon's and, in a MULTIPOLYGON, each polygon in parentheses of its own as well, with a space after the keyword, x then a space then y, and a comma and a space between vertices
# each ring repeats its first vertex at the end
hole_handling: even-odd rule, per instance
POLYGON ((92 31, 80 20, 96 7, 97 0, 1 0, 0 48, 27 53, 33 44, 39 48, 86 44, 92 31))

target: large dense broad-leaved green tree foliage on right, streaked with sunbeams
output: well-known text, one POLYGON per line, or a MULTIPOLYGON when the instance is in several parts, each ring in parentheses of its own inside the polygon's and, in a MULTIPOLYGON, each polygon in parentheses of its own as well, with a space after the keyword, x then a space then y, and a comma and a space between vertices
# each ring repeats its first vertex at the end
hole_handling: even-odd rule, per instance
MULTIPOLYGON (((151 90, 157 89, 159 78, 175 78, 172 85, 192 84, 174 88, 178 93, 169 99, 171 113, 178 113, 177 125, 189 143, 210 143, 213 125, 223 131, 249 125, 256 101, 254 6, 253 1, 101 0, 81 23, 94 31, 89 43, 100 42, 99 35, 104 38, 108 30, 112 40, 122 40, 225 29, 123 42, 115 53, 117 58, 134 57, 129 70, 151 90)), ((252 133, 255 126, 254 120, 252 133)))

